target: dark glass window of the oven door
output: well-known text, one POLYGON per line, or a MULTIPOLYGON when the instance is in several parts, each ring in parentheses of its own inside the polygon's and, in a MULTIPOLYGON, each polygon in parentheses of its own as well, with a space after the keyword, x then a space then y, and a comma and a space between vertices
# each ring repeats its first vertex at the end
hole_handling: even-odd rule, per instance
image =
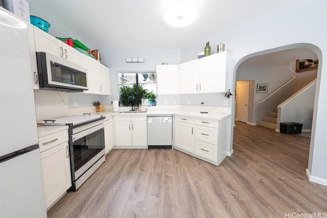
POLYGON ((104 149, 104 129, 73 142, 75 172, 104 149))

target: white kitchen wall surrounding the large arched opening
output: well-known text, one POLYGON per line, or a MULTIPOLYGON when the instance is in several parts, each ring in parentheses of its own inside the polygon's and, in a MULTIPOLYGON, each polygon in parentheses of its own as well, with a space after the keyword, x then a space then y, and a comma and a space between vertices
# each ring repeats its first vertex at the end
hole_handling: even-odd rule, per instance
MULTIPOLYGON (((295 47, 311 49, 318 55, 319 67, 317 74, 317 87, 313 114, 313 134, 311 138, 309 155, 309 177, 321 184, 327 185, 327 146, 325 146, 325 124, 327 122, 327 2, 326 1, 285 1, 274 13, 256 19, 242 21, 242 25, 230 27, 224 32, 207 36, 201 42, 187 47, 181 51, 181 60, 188 61, 194 54, 203 50, 204 42, 210 41, 212 45, 225 44, 225 49, 231 55, 231 64, 235 75, 238 65, 249 57, 267 54, 295 47), (287 4, 289 3, 289 4, 287 4), (303 12, 303 13, 301 13, 303 12), (313 27, 310 31, 302 31, 301 27, 313 27)), ((231 90, 235 89, 232 84, 231 90)), ((234 107, 234 105, 232 106, 234 107)), ((234 111, 234 109, 232 109, 234 111)), ((234 114, 233 114, 234 115, 234 114)), ((231 128, 231 132, 233 129, 231 128)), ((230 150, 232 144, 230 144, 230 150)))

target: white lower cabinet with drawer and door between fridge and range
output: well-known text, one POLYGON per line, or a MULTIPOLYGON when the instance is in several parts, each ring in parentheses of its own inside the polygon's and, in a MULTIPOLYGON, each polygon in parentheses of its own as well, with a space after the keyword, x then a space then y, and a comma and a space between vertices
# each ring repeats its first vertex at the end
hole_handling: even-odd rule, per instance
POLYGON ((39 138, 47 209, 50 209, 72 186, 67 132, 65 130, 39 138))

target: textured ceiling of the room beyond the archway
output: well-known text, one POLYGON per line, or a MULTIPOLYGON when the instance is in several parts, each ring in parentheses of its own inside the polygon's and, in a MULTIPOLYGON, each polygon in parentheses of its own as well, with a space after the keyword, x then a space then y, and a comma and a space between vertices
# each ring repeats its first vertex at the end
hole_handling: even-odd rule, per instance
POLYGON ((248 67, 271 67, 282 65, 297 59, 317 59, 316 53, 310 49, 288 49, 280 52, 273 52, 249 58, 241 63, 240 66, 248 67))

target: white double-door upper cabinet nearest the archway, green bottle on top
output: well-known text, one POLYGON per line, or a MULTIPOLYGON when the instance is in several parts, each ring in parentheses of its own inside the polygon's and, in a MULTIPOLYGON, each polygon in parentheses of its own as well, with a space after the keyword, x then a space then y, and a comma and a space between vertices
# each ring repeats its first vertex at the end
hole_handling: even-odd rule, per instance
POLYGON ((180 93, 224 92, 227 89, 228 70, 229 58, 226 51, 181 63, 180 93))

